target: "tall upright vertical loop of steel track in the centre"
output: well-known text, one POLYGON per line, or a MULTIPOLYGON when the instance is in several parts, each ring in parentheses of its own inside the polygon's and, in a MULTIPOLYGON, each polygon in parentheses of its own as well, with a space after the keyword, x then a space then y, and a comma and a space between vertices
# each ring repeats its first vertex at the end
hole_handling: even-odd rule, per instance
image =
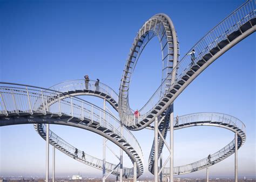
MULTIPOLYGON (((126 60, 119 87, 119 116, 121 122, 129 127, 131 125, 135 127, 138 123, 138 121, 136 122, 138 119, 134 118, 134 111, 129 105, 129 86, 131 76, 140 54, 143 52, 146 44, 154 36, 158 37, 161 46, 163 64, 161 82, 164 83, 161 84, 161 89, 165 90, 168 88, 170 83, 172 83, 171 80, 174 80, 176 76, 175 71, 173 72, 172 70, 177 65, 178 60, 179 44, 177 41, 176 30, 174 29, 174 25, 170 17, 165 14, 157 14, 146 21, 142 28, 139 29, 126 60), (168 80, 168 82, 163 82, 164 80, 168 80)), ((164 92, 161 92, 160 94, 164 94, 164 92)), ((133 129, 133 127, 130 127, 130 129, 133 129)))

